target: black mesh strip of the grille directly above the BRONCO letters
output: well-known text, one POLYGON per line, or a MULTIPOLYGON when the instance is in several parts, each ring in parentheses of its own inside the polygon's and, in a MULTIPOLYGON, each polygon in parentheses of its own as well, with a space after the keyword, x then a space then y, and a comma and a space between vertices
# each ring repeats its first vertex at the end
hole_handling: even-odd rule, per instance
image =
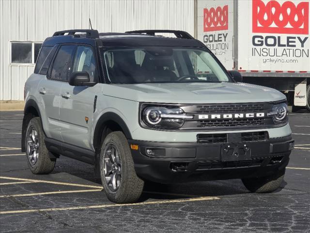
POLYGON ((195 113, 236 113, 236 112, 260 112, 264 109, 263 103, 245 104, 208 104, 193 106, 195 113))

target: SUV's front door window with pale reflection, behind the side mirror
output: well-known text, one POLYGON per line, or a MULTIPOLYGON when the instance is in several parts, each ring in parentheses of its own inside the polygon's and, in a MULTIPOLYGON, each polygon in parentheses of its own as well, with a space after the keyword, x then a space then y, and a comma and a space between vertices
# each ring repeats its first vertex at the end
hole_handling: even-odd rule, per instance
POLYGON ((89 74, 90 82, 93 82, 93 77, 96 72, 96 63, 93 56, 93 50, 90 47, 79 46, 77 55, 74 60, 72 72, 86 71, 89 74))

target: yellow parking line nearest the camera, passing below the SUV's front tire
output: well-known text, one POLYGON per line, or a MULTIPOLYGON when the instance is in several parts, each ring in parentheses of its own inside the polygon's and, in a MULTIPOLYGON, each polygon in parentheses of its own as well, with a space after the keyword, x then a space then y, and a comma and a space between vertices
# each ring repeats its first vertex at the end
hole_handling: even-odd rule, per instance
POLYGON ((64 208, 48 208, 48 209, 31 209, 31 210, 11 210, 11 211, 0 211, 0 214, 20 214, 20 213, 31 213, 41 211, 62 211, 62 210, 86 210, 86 209, 101 209, 107 207, 119 207, 119 206, 139 206, 139 205, 151 205, 151 204, 165 204, 165 203, 179 203, 189 201, 203 201, 203 200, 218 200, 217 197, 199 197, 199 198, 188 198, 179 200, 158 200, 158 201, 147 201, 139 203, 127 203, 127 204, 105 204, 105 205, 90 205, 90 206, 75 206, 75 207, 64 207, 64 208))

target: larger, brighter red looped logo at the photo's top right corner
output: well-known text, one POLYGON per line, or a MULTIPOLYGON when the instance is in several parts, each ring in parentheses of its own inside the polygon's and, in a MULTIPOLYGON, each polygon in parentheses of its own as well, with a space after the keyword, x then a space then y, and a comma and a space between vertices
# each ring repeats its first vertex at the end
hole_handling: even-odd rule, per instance
POLYGON ((277 0, 252 0, 252 32, 308 34, 309 33, 309 2, 277 0))

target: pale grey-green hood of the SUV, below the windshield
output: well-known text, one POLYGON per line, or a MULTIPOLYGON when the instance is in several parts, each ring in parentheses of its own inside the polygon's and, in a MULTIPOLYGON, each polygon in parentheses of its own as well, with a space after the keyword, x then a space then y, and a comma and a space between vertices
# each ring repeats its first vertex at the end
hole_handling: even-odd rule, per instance
POLYGON ((104 94, 139 102, 240 103, 286 99, 279 91, 248 83, 105 84, 104 94))

